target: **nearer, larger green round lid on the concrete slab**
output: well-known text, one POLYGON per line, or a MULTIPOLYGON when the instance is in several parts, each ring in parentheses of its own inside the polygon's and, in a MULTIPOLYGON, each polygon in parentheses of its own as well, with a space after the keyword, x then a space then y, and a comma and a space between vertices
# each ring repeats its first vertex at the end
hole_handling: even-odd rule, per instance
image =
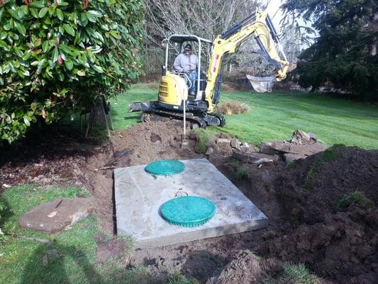
POLYGON ((204 197, 182 196, 163 203, 160 214, 169 224, 201 226, 216 214, 216 205, 204 197))

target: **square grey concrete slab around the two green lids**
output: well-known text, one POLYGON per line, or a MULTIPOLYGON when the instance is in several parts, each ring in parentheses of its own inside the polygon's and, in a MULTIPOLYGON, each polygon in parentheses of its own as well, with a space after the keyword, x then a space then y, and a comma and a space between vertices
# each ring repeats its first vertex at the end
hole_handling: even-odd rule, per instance
POLYGON ((145 165, 114 170, 118 235, 130 235, 135 249, 265 228, 268 219, 209 160, 182 160, 178 175, 153 177, 145 165), (203 226, 184 228, 165 222, 160 206, 177 196, 206 197, 216 204, 216 215, 203 226))

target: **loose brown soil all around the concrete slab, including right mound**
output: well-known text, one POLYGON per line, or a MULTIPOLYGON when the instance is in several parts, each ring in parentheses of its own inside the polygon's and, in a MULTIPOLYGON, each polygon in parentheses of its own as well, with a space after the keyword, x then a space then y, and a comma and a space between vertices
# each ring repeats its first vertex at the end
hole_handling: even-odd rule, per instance
MULTIPOLYGON (((48 133, 6 151, 0 184, 84 185, 102 229, 113 233, 113 168, 158 159, 204 158, 194 151, 196 136, 192 138, 189 148, 183 149, 181 127, 156 121, 116 132, 102 145, 71 133, 48 133)), ((344 147, 332 160, 318 153, 289 165, 281 159, 243 163, 230 153, 215 152, 206 158, 267 214, 269 227, 133 251, 128 267, 148 266, 157 283, 175 271, 200 283, 262 283, 277 278, 290 261, 305 263, 318 283, 377 283, 378 151, 344 147), (245 173, 242 177, 240 170, 245 173), (374 204, 338 207, 343 195, 356 191, 374 204)), ((99 243, 99 262, 118 258, 125 249, 121 241, 99 243)))

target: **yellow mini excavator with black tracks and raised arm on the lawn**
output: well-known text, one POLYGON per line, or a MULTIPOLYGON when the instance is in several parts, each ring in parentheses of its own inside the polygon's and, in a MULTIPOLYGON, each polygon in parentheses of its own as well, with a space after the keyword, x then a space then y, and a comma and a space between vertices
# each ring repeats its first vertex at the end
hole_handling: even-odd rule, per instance
POLYGON ((142 111, 141 120, 186 119, 191 128, 224 126, 221 114, 213 112, 219 102, 222 84, 223 59, 227 53, 235 53, 236 48, 253 36, 260 46, 260 54, 275 69, 274 82, 286 77, 289 62, 279 43, 272 20, 265 11, 257 11, 233 28, 213 40, 196 35, 170 35, 165 44, 165 64, 162 65, 158 99, 155 102, 133 102, 130 111, 142 111), (174 70, 176 55, 182 52, 184 44, 194 45, 199 63, 196 80, 189 80, 185 72, 174 70), (204 72, 207 70, 207 73, 204 72), (188 92, 191 84, 196 84, 196 93, 188 92))

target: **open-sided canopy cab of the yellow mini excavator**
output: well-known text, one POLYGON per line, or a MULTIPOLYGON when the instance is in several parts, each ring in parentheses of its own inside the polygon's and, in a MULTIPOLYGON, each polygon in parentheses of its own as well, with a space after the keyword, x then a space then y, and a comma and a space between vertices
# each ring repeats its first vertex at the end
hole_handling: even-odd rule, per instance
MULTIPOLYGON (((189 101, 203 101, 204 91, 206 89, 206 70, 209 67, 209 58, 211 55, 212 41, 200 38, 196 35, 180 35, 174 34, 170 35, 162 41, 165 46, 165 63, 162 65, 162 80, 160 82, 159 89, 159 102, 164 104, 165 102, 172 103, 172 99, 167 96, 167 87, 169 82, 172 81, 176 75, 184 79, 187 89, 185 86, 180 84, 179 80, 176 80, 176 85, 180 85, 183 92, 186 94, 185 99, 189 101), (184 46, 190 43, 192 46, 192 54, 196 55, 199 60, 198 67, 196 69, 196 80, 190 80, 189 74, 187 72, 179 72, 174 69, 174 60, 177 56, 183 52, 184 46), (196 84, 195 94, 189 94, 189 89, 191 89, 192 84, 196 84)), ((177 92, 176 92, 177 93, 177 92)))

